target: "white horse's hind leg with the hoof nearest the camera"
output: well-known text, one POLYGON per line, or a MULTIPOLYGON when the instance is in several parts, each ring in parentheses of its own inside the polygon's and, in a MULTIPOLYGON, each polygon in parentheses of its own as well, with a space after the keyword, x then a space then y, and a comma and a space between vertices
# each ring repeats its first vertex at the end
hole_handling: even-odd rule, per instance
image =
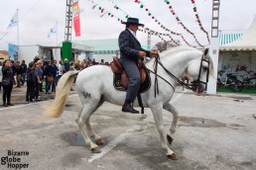
POLYGON ((84 127, 85 123, 87 122, 93 111, 95 111, 95 108, 96 106, 93 103, 84 104, 81 113, 79 114, 78 119, 76 120, 76 123, 81 131, 85 143, 90 146, 90 150, 93 153, 98 153, 100 152, 98 145, 91 141, 87 129, 84 127))

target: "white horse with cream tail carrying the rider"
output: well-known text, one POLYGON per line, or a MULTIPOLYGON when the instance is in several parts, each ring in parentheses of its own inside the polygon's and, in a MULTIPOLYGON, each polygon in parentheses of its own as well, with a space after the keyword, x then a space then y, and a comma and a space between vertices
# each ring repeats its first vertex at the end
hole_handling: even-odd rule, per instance
MULTIPOLYGON (((206 54, 207 52, 204 51, 204 55, 206 54)), ((207 62, 201 61, 202 55, 203 52, 190 46, 178 46, 162 52, 160 58, 163 65, 176 77, 181 77, 181 75, 186 73, 191 82, 194 82, 199 78, 200 82, 194 83, 193 86, 193 91, 196 94, 199 94, 205 89, 205 84, 201 83, 201 81, 206 81, 206 70, 209 67, 207 62)), ((153 65, 154 59, 151 59, 146 63, 146 66, 151 70, 153 70, 153 65)), ((212 64, 210 64, 210 67, 211 66, 212 64)), ((173 87, 176 87, 177 80, 171 78, 160 65, 158 67, 158 74, 171 83, 173 87)), ((95 65, 83 69, 80 72, 68 71, 62 76, 58 83, 56 99, 53 102, 52 107, 48 110, 48 115, 52 117, 60 117, 62 115, 64 112, 64 104, 76 75, 76 91, 82 103, 82 109, 78 115, 76 123, 86 145, 90 146, 93 153, 97 153, 100 152, 98 144, 102 144, 103 142, 101 137, 91 128, 89 118, 103 104, 103 102, 122 106, 126 92, 117 91, 113 87, 113 72, 109 66, 95 65), (95 138, 95 143, 92 142, 90 136, 95 138)), ((151 78, 153 79, 154 77, 155 75, 151 73, 151 78)), ((144 107, 150 108, 153 113, 156 126, 160 133, 162 147, 166 151, 167 156, 171 159, 176 159, 175 152, 171 150, 167 143, 168 141, 170 143, 173 141, 179 119, 178 111, 170 104, 174 95, 174 88, 163 79, 158 78, 159 94, 155 98, 154 83, 155 82, 152 81, 151 88, 147 92, 141 94, 142 102, 144 107), (164 130, 162 116, 163 109, 171 112, 174 116, 172 126, 168 132, 164 130)), ((137 100, 135 101, 134 106, 139 106, 137 100)))

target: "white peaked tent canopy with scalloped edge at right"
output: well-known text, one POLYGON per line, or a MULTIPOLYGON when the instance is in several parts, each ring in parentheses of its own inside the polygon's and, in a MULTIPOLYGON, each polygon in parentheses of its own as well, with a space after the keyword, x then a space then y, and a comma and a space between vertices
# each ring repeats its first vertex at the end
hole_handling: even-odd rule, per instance
POLYGON ((219 47, 220 50, 256 50, 256 15, 249 29, 235 42, 219 47))

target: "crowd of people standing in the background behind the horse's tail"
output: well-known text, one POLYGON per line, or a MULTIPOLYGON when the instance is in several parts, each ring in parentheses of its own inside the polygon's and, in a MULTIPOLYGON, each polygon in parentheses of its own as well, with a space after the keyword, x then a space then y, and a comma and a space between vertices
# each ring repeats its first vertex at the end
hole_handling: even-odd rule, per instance
MULTIPOLYGON (((63 74, 69 70, 82 70, 88 66, 98 63, 83 59, 68 62, 59 62, 55 59, 50 61, 41 61, 37 56, 27 65, 25 60, 11 61, 5 60, 0 62, 0 92, 3 91, 3 106, 13 106, 11 102, 11 94, 13 87, 20 88, 27 85, 26 103, 41 101, 41 93, 52 94, 56 92, 56 87, 63 74), (45 85, 45 91, 43 90, 45 85)), ((72 89, 70 89, 72 90, 72 89)))

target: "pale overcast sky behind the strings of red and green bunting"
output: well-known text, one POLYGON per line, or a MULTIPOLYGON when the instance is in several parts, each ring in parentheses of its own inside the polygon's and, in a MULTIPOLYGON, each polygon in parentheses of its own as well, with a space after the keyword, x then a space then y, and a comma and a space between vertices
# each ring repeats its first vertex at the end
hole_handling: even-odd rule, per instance
MULTIPOLYGON (((165 0, 142 0, 142 2, 164 26, 182 33, 188 42, 196 44, 192 36, 181 25, 178 25, 165 0)), ((181 21, 195 34, 198 42, 206 44, 206 36, 195 22, 191 0, 170 0, 170 2, 181 21)), ((210 35, 212 0, 195 0, 195 4, 202 26, 210 35)), ((138 4, 134 3, 134 0, 93 0, 93 3, 91 0, 79 0, 81 36, 75 38, 72 32, 72 40, 117 39, 125 26, 107 14, 100 17, 101 13, 98 10, 98 7, 101 6, 114 16, 125 19, 125 14, 121 10, 114 9, 114 5, 117 5, 130 17, 139 18, 140 23, 152 30, 167 33, 148 16, 145 8, 141 9, 138 4), (97 6, 92 9, 95 4, 97 6)), ((54 27, 56 22, 58 22, 58 42, 63 42, 65 8, 65 0, 0 0, 0 39, 8 32, 7 36, 0 41, 0 49, 7 49, 8 42, 17 42, 17 28, 7 30, 17 9, 19 9, 20 19, 20 45, 56 45, 56 35, 48 39, 50 29, 54 27)), ((255 15, 256 0, 220 0, 219 30, 221 33, 244 32, 250 26, 255 15)), ((137 37, 142 44, 147 44, 145 33, 138 32, 137 37)), ((167 41, 170 40, 168 37, 163 38, 167 41)), ((177 36, 173 38, 180 39, 177 36)), ((152 36, 152 44, 160 41, 158 37, 152 36)))

